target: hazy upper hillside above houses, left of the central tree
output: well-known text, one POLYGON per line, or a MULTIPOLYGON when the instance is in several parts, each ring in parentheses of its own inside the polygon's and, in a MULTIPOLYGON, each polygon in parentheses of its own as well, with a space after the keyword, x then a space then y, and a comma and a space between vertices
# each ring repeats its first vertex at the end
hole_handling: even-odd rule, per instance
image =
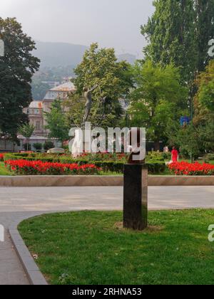
POLYGON ((77 65, 87 46, 72 43, 46 43, 36 41, 34 55, 41 60, 41 68, 77 65))

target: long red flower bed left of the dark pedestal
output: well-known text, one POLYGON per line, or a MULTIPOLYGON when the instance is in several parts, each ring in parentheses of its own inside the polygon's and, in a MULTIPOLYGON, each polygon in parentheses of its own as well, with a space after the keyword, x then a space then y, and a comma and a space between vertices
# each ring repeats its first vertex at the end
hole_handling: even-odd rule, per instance
POLYGON ((8 160, 4 163, 11 172, 23 175, 98 174, 101 171, 101 168, 96 167, 94 164, 79 166, 78 164, 27 160, 8 160))

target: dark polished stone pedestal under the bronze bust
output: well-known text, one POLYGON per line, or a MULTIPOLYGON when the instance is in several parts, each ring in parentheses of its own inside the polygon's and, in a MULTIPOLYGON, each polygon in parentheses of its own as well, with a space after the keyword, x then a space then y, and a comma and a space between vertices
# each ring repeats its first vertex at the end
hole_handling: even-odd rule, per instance
POLYGON ((148 226, 148 168, 124 165, 123 227, 143 230, 148 226))

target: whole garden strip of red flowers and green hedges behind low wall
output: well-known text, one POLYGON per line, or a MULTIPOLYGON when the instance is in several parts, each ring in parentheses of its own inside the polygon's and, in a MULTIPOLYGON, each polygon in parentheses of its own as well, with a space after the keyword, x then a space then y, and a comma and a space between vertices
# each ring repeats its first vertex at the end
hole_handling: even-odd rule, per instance
MULTIPOLYGON (((205 162, 165 162, 161 152, 150 152, 146 157, 149 174, 182 176, 212 176, 214 164, 205 162)), ((76 159, 71 154, 36 154, 34 152, 0 154, 1 167, 12 175, 102 175, 123 174, 127 154, 82 154, 76 159)))

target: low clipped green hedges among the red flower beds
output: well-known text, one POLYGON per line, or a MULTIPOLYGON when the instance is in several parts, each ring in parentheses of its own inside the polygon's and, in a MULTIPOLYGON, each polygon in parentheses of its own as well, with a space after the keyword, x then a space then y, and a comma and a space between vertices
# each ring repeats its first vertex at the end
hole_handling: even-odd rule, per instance
MULTIPOLYGON (((85 165, 88 164, 87 159, 72 159, 69 157, 64 156, 56 156, 56 157, 41 157, 38 154, 29 154, 23 153, 23 154, 4 154, 4 161, 7 160, 27 160, 27 161, 41 161, 41 162, 59 162, 63 164, 73 164, 77 163, 78 165, 85 165), (36 157, 37 156, 37 157, 36 157)), ((123 173, 123 165, 124 162, 115 162, 115 161, 93 161, 93 164, 95 164, 97 167, 101 167, 103 169, 103 172, 116 172, 116 173, 123 173)), ((163 161, 156 161, 149 159, 147 161, 148 166, 148 173, 149 174, 157 174, 162 173, 165 171, 165 162, 163 161)))

